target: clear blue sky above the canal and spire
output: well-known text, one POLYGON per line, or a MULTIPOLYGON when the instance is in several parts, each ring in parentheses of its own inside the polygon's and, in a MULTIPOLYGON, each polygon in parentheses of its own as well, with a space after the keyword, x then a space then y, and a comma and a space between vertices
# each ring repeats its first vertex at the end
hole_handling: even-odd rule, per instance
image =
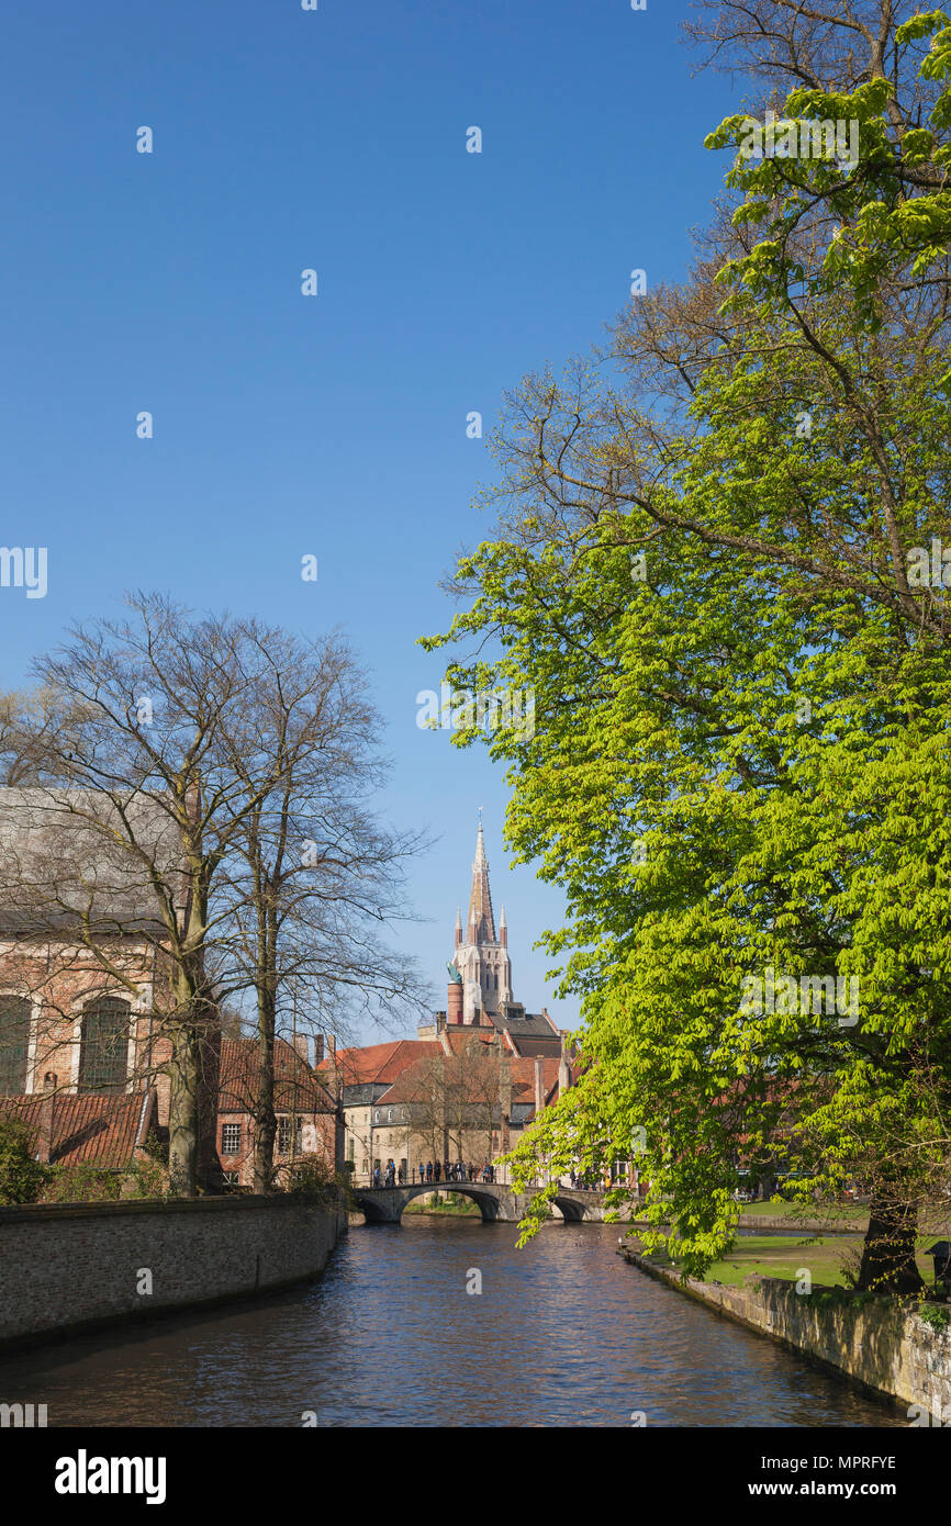
POLYGON ((531 952, 560 896, 508 870, 501 771, 415 725, 440 681, 415 641, 449 621, 438 578, 490 528, 466 415, 488 436, 505 388, 597 342, 633 267, 658 282, 690 261, 725 169, 702 139, 736 95, 691 79, 684 14, 92 0, 5 17, 0 543, 47 546, 49 592, 0 589, 0 684, 127 588, 342 626, 388 723, 388 815, 440 839, 414 873, 432 920, 401 934, 440 1006, 484 806, 516 996, 577 1015, 531 952))

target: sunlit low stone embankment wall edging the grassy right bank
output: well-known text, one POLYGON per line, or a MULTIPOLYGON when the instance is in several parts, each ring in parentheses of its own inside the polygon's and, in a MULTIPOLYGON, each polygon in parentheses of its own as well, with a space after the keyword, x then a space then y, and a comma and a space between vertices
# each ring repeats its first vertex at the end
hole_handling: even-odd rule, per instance
POLYGON ((821 1306, 814 1286, 798 1294, 795 1283, 751 1274, 743 1286, 719 1282, 681 1282, 676 1270, 624 1248, 624 1257, 679 1293, 771 1335, 783 1346, 824 1367, 837 1369, 862 1387, 904 1405, 920 1405, 919 1424, 951 1421, 951 1331, 936 1331, 919 1317, 914 1300, 875 1299, 861 1308, 821 1306))

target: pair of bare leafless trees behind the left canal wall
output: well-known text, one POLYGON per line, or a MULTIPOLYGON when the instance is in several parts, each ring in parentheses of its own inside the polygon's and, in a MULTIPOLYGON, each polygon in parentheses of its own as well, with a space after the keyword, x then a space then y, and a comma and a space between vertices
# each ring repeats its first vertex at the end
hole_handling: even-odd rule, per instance
MULTIPOLYGON (((334 964, 342 943, 316 938, 319 919, 308 900, 333 908, 350 877, 354 908, 383 920, 395 906, 392 884, 389 893, 385 885, 406 844, 374 836, 371 818, 351 809, 353 797, 348 803, 345 714, 357 693, 347 685, 353 670, 339 644, 322 649, 321 708, 318 649, 307 655, 308 678, 298 688, 287 664, 302 659, 304 649, 275 629, 229 617, 195 620, 159 595, 136 595, 130 606, 127 620, 75 629, 37 667, 43 705, 17 714, 11 751, 29 758, 35 783, 21 809, 43 813, 44 862, 23 873, 12 830, 3 899, 23 905, 26 897, 34 937, 55 942, 58 958, 87 960, 113 989, 139 993, 142 984, 140 971, 118 951, 134 946, 151 960, 159 980, 150 1027, 166 1044, 169 1170, 191 1195, 215 1169, 209 1129, 221 1004, 241 1004, 253 990, 260 1027, 264 1012, 261 1085, 273 1090, 273 1025, 289 977, 305 974, 324 990, 337 977, 347 983, 334 964), (325 873, 307 881, 301 812, 318 798, 321 765, 327 810, 348 813, 333 826, 328 816, 325 873), (61 853, 67 838, 70 852, 61 853), (336 865, 334 841, 348 842, 336 865)), ((366 742, 365 728, 351 792, 377 780, 366 742)), ((325 923, 333 923, 331 911, 325 923)), ((366 989, 405 995, 409 981, 398 961, 389 978, 380 977, 380 951, 374 966, 365 942, 360 964, 353 957, 359 948, 354 934, 353 987, 366 977, 366 989)), ((273 1097, 264 1100, 267 1114, 273 1119, 273 1097)))

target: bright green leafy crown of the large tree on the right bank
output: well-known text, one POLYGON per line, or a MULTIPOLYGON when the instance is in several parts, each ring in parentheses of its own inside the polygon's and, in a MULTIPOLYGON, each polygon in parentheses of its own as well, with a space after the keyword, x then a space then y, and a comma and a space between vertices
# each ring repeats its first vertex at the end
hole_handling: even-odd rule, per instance
MULTIPOLYGON (((943 79, 946 20, 916 26, 943 79)), ((487 745, 516 861, 566 897, 542 945, 582 998, 583 1074, 511 1152, 514 1184, 598 1170, 641 1129, 646 1250, 695 1276, 731 1242, 740 1170, 782 1167, 804 1204, 888 1170, 916 1199, 946 1160, 948 630, 908 557, 951 545, 951 119, 942 87, 896 153, 891 92, 789 96, 858 121, 850 174, 737 162, 736 227, 762 238, 734 241, 719 311, 698 276, 620 325, 620 383, 524 383, 495 443, 502 520, 456 572, 472 603, 423 642, 453 644, 459 688, 534 693, 534 736, 487 745), (789 984, 754 1010, 768 969, 789 984), (838 1009, 800 1001, 814 978, 838 1009)))

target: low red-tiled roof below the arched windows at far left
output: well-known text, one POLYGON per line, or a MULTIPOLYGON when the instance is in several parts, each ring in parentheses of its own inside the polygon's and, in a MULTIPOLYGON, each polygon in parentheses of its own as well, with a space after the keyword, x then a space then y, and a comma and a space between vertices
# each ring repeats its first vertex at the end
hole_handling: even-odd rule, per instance
POLYGON ((35 1131, 38 1144, 44 1103, 52 1103, 49 1158, 53 1166, 130 1166, 156 1117, 153 1090, 119 1097, 50 1097, 44 1093, 0 1097, 0 1114, 14 1112, 23 1119, 35 1131))

